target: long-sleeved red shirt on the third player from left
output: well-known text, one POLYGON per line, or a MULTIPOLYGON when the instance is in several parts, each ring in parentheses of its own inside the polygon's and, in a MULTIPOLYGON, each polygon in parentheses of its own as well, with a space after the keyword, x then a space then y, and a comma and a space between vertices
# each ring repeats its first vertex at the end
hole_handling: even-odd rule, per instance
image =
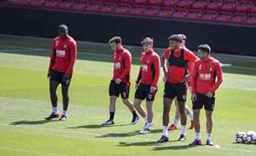
POLYGON ((143 83, 144 85, 151 85, 156 88, 160 77, 160 64, 160 57, 155 51, 150 50, 142 53, 141 68, 136 83, 143 83))

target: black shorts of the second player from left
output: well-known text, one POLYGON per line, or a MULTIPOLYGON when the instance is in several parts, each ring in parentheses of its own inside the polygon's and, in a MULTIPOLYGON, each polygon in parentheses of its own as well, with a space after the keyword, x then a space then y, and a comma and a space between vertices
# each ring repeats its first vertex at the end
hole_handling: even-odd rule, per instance
POLYGON ((122 82, 120 84, 116 84, 114 80, 110 83, 109 88, 109 95, 110 96, 116 96, 119 97, 121 94, 121 97, 123 99, 128 99, 130 93, 130 82, 122 82))

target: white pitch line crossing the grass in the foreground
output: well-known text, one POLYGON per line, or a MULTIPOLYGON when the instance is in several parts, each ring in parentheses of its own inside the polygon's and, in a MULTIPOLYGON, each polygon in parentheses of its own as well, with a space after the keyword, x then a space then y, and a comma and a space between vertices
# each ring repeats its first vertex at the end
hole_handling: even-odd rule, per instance
MULTIPOLYGON (((25 126, 17 126, 17 125, 9 125, 6 123, 0 123, 0 126, 6 126, 6 127, 17 127, 17 128, 25 128, 25 129, 29 129, 29 130, 50 130, 50 131, 57 131, 57 132, 67 132, 67 133, 73 133, 73 134, 91 134, 94 136, 101 136, 100 133, 94 133, 94 132, 86 132, 86 131, 74 131, 74 130, 58 130, 58 129, 48 129, 48 128, 32 128, 32 127, 25 127, 25 126)), ((86 136, 86 135, 84 135, 86 136)), ((106 138, 117 138, 117 137, 106 137, 106 138)), ((121 138, 121 137, 118 137, 121 138)), ((125 138, 125 137, 124 137, 125 138)), ((135 140, 147 140, 147 141, 155 141, 155 140, 148 140, 145 138, 136 138, 135 140)), ((155 145, 157 144, 157 142, 155 141, 155 145)), ((208 146, 203 146, 205 148, 208 148, 208 146)), ((239 152, 247 152, 247 153, 256 153, 256 151, 251 151, 251 150, 244 150, 244 149, 232 149, 232 148, 226 148, 226 147, 219 147, 219 148, 208 148, 208 149, 214 149, 214 150, 223 150, 223 151, 239 151, 239 152)), ((50 154, 50 153, 49 153, 50 154)))

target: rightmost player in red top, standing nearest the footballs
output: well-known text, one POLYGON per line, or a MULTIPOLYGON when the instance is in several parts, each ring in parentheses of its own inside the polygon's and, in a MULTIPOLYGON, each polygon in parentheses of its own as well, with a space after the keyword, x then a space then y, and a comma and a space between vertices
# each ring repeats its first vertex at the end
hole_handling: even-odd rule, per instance
POLYGON ((222 69, 217 59, 210 57, 210 47, 208 45, 200 45, 197 55, 200 57, 195 62, 191 77, 193 101, 193 111, 195 120, 196 139, 190 144, 192 146, 201 145, 199 115, 200 109, 205 108, 207 117, 207 142, 209 146, 213 146, 211 141, 212 131, 212 111, 215 106, 215 93, 223 81, 222 69), (217 80, 216 80, 217 78, 217 80))

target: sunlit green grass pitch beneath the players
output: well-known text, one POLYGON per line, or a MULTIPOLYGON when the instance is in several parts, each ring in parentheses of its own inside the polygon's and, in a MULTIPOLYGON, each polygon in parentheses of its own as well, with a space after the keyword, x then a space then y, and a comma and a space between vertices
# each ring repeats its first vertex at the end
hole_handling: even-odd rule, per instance
MULTIPOLYGON (((90 49, 92 52, 93 47, 90 49)), ((130 125, 132 115, 120 99, 117 102, 116 125, 101 127, 102 121, 109 116, 108 85, 112 77, 112 63, 95 61, 98 57, 91 60, 80 59, 76 63, 69 90, 69 119, 64 122, 45 121, 44 117, 48 116, 51 106, 48 95, 48 57, 42 57, 47 56, 42 51, 44 50, 35 49, 33 45, 27 48, 4 44, 0 46, 0 52, 3 52, 0 53, 1 156, 256 155, 255 145, 234 143, 237 131, 256 130, 255 69, 225 68, 225 82, 217 94, 212 134, 220 148, 191 148, 187 145, 195 137, 194 130, 187 130, 188 138, 185 142, 176 141, 179 134, 179 130, 176 130, 169 133, 170 142, 161 145, 155 143, 162 135, 164 85, 161 80, 155 98, 155 125, 151 134, 137 134, 144 121, 140 120, 138 125, 130 125), (32 52, 42 55, 15 54, 32 52)), ((137 71, 138 66, 133 65, 132 100, 137 71)), ((58 91, 61 109, 60 88, 58 91)), ((190 100, 187 105, 191 108, 190 100)), ((175 106, 173 110, 174 108, 175 106)), ((171 117, 174 116, 173 110, 171 117)), ((204 110, 201 116, 202 137, 205 140, 204 110)))

